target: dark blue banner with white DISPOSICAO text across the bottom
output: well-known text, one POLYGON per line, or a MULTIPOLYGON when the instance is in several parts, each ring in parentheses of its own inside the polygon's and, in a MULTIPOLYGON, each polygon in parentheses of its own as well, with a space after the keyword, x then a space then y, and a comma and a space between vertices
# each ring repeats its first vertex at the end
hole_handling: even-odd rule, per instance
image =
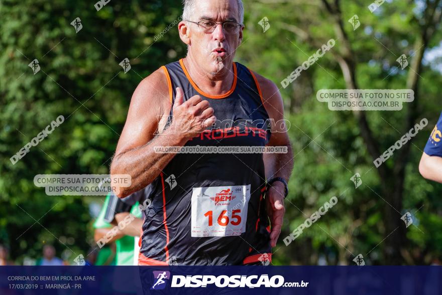
POLYGON ((440 266, 3 266, 0 294, 442 294, 440 266))

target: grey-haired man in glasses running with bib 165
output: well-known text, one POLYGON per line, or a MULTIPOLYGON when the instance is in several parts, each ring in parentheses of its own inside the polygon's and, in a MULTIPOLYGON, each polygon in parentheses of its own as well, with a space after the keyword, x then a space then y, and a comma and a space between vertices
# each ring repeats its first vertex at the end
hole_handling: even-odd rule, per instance
POLYGON ((243 18, 241 0, 185 1, 178 30, 186 57, 146 77, 132 96, 111 174, 132 178, 117 189, 120 198, 152 183, 140 265, 271 260, 293 154, 278 88, 233 61, 243 18), (287 152, 158 152, 196 146, 287 152))

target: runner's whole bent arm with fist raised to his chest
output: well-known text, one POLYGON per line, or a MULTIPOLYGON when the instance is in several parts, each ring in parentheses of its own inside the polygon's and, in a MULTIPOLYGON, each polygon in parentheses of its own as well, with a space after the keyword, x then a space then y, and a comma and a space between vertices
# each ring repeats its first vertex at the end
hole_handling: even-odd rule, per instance
POLYGON ((119 198, 146 187, 175 156, 174 153, 156 153, 155 147, 183 146, 215 120, 213 109, 199 95, 183 101, 184 93, 177 88, 174 117, 170 126, 163 130, 170 112, 169 86, 164 71, 156 70, 138 85, 111 164, 113 183, 117 174, 131 176, 130 187, 117 184, 115 194, 119 198))

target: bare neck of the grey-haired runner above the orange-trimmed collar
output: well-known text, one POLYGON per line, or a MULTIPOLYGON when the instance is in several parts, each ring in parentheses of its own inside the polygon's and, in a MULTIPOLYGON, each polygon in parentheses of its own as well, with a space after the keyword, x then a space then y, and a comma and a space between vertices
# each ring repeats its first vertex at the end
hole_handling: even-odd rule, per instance
POLYGON ((183 59, 184 66, 193 82, 204 92, 211 95, 221 95, 232 88, 235 78, 233 63, 225 66, 215 74, 206 72, 198 66, 191 54, 183 59))

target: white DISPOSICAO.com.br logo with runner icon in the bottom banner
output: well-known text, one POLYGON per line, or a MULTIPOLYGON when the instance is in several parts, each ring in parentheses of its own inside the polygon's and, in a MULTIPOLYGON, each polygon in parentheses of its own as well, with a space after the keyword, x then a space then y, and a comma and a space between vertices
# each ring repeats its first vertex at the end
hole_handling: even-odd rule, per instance
MULTIPOLYGON (((170 278, 169 271, 154 271, 154 284, 151 289, 164 289, 166 280, 170 278)), ((261 275, 173 275, 171 280, 171 287, 207 287, 207 285, 214 284, 216 287, 307 287, 308 282, 284 282, 282 275, 273 275, 269 277, 268 274, 261 275)))

